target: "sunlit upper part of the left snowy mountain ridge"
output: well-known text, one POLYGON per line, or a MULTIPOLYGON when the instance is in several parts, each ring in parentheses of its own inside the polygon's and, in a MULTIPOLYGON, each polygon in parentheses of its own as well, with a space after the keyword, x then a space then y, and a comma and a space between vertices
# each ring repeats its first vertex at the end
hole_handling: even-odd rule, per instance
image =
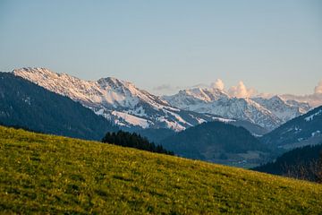
POLYGON ((139 100, 153 103, 157 99, 135 87, 131 82, 125 82, 113 77, 101 78, 98 81, 84 81, 66 73, 54 73, 45 68, 23 68, 13 71, 35 82, 47 90, 55 91, 72 99, 100 106, 104 103, 111 107, 134 107, 139 100))

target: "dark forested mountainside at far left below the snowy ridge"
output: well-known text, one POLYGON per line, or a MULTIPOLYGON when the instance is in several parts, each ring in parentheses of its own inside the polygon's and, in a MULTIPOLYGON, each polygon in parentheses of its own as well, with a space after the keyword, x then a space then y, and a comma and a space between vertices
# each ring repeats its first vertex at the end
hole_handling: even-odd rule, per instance
POLYGON ((0 124, 89 140, 118 130, 80 103, 13 73, 0 73, 0 124))

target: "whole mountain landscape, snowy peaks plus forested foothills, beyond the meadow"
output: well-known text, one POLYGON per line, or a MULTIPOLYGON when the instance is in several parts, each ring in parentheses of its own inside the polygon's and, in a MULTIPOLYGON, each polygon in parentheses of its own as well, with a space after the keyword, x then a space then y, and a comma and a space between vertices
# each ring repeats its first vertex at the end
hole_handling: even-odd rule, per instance
POLYGON ((306 113, 307 103, 280 96, 235 98, 213 87, 157 97, 116 78, 45 68, 1 73, 1 82, 0 123, 43 133, 99 140, 121 128, 180 156, 238 167, 322 140, 322 107, 306 113))

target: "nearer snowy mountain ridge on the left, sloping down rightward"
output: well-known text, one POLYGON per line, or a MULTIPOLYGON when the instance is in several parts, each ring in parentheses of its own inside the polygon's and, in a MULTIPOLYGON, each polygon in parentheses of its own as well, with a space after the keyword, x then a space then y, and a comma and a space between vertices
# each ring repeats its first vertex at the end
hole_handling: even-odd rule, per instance
POLYGON ((131 82, 111 77, 95 82, 84 81, 45 68, 22 68, 14 70, 13 74, 78 101, 97 115, 105 116, 127 130, 166 128, 178 132, 203 122, 223 121, 245 126, 258 135, 267 132, 245 120, 174 107, 165 99, 138 89, 131 82))

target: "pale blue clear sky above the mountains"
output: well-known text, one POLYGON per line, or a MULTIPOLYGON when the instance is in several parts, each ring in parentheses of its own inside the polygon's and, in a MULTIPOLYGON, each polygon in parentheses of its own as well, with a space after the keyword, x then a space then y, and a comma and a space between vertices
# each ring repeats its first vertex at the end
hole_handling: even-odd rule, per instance
POLYGON ((322 79, 322 1, 0 0, 0 70, 25 66, 156 93, 216 78, 311 93, 322 79), (171 89, 153 90, 161 85, 171 89))

